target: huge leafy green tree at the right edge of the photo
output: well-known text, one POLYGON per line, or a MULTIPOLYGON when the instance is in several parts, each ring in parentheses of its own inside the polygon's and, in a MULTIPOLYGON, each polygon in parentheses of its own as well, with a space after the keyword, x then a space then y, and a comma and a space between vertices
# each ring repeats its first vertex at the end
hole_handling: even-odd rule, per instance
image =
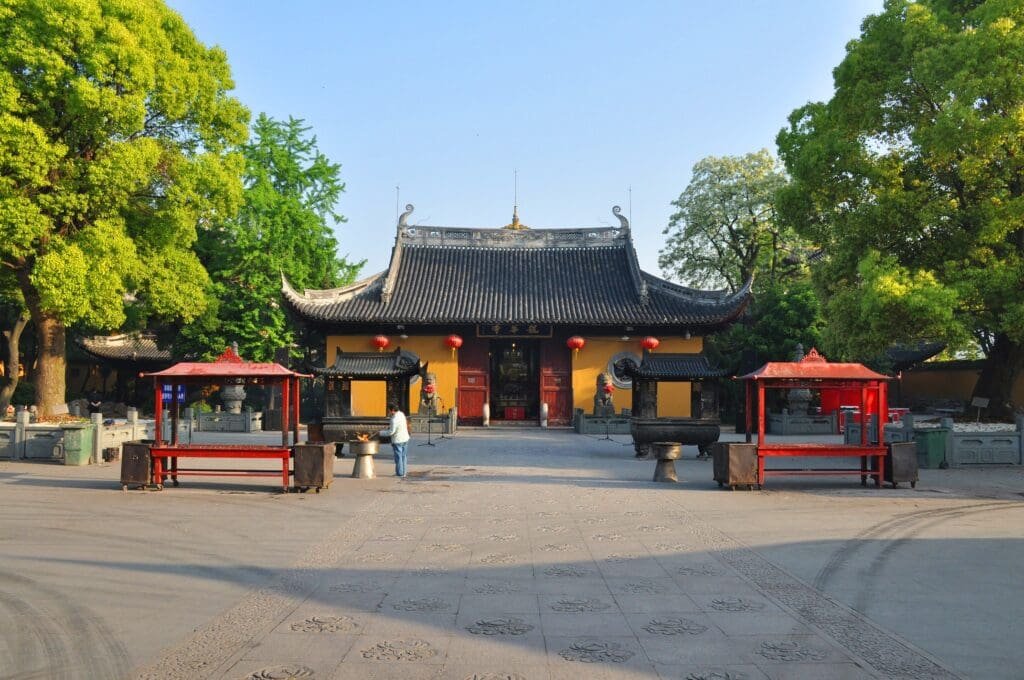
POLYGON ((833 348, 973 338, 975 388, 1013 409, 1024 368, 1024 4, 888 0, 836 93, 778 135, 780 210, 826 257, 833 348))

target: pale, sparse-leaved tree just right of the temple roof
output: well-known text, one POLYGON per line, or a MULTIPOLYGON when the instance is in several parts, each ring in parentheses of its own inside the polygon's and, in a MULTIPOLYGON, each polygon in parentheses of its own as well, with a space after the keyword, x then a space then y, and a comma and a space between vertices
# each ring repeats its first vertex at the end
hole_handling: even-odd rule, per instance
POLYGON ((662 270, 689 285, 736 291, 755 273, 773 281, 791 269, 803 245, 776 216, 775 194, 785 182, 768 150, 697 162, 672 202, 678 210, 663 231, 662 270))

